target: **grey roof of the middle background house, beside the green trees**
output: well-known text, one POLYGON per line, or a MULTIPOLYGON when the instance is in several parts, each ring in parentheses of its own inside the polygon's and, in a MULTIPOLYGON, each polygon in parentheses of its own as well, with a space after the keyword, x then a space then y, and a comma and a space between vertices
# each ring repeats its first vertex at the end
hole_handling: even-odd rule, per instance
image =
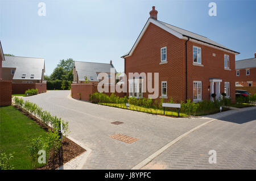
MULTIPOLYGON (((74 61, 74 66, 76 68, 79 81, 84 81, 85 76, 87 76, 89 80, 91 80, 90 77, 93 77, 93 81, 98 81, 97 73, 110 73, 110 68, 114 68, 113 64, 81 61, 74 61)), ((116 70, 115 73, 117 73, 116 70)))

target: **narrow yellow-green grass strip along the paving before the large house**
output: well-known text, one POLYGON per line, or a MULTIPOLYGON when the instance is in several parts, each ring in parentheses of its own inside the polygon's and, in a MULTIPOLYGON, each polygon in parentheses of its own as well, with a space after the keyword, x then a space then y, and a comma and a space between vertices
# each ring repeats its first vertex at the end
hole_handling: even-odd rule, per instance
MULTIPOLYGON (((104 106, 112 106, 112 107, 118 107, 118 108, 124 108, 127 110, 126 104, 113 104, 113 103, 98 103, 104 106)), ((153 108, 144 108, 140 106, 134 106, 130 104, 130 107, 128 110, 133 110, 133 111, 140 111, 140 112, 147 112, 147 113, 154 113, 154 114, 159 114, 163 115, 164 111, 163 110, 155 110, 153 108)), ((165 111, 165 115, 168 116, 178 116, 178 113, 176 111, 165 111)), ((185 113, 180 113, 180 117, 185 117, 188 116, 185 113)))

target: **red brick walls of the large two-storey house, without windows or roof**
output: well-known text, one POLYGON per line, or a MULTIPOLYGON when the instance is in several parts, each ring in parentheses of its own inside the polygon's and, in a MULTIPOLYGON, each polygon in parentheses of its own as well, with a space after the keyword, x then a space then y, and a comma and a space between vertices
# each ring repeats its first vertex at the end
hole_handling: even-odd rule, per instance
MULTIPOLYGON (((202 99, 210 99, 209 78, 220 78, 220 93, 224 92, 224 82, 230 82, 232 102, 235 96, 235 55, 210 48, 205 45, 188 41, 188 99, 193 100, 193 81, 202 82, 202 99), (201 47, 201 62, 203 66, 193 65, 193 45, 201 47), (213 53, 216 54, 213 57, 213 53), (230 70, 224 70, 224 54, 230 58, 230 70)), ((159 73, 159 96, 161 81, 167 81, 167 99, 175 102, 185 101, 185 40, 150 24, 144 32, 133 54, 125 58, 125 73, 159 73), (167 47, 167 64, 160 63, 160 48, 167 47)), ((154 85, 154 79, 152 81, 154 85)), ((127 86, 129 89, 129 85, 127 86)), ((143 93, 148 98, 148 92, 143 93)), ((166 100, 167 101, 167 100, 166 100)))

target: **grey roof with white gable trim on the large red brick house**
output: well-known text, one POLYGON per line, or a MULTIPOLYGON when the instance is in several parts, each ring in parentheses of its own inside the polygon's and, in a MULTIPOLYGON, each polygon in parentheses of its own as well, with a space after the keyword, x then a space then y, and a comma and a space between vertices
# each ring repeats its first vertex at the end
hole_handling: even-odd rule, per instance
POLYGON ((137 46, 139 40, 141 40, 141 37, 143 36, 143 33, 146 31, 146 29, 147 29, 147 27, 150 23, 153 23, 156 26, 162 28, 163 30, 166 30, 166 31, 170 32, 172 35, 175 35, 176 37, 179 37, 180 39, 188 39, 188 37, 189 37, 190 39, 200 41, 200 42, 208 44, 208 45, 212 45, 215 48, 221 48, 221 49, 224 49, 224 50, 228 50, 228 51, 230 51, 234 54, 239 54, 239 52, 236 52, 236 51, 234 51, 230 48, 227 48, 227 47, 225 47, 221 44, 218 44, 215 41, 210 40, 205 36, 198 35, 196 33, 184 30, 182 28, 172 26, 171 24, 164 23, 164 22, 161 22, 161 21, 153 19, 153 18, 148 18, 147 23, 143 27, 143 30, 140 33, 138 39, 135 41, 135 44, 133 45, 133 48, 131 48, 131 50, 128 53, 124 54, 122 57, 130 56, 133 53, 133 50, 137 46))

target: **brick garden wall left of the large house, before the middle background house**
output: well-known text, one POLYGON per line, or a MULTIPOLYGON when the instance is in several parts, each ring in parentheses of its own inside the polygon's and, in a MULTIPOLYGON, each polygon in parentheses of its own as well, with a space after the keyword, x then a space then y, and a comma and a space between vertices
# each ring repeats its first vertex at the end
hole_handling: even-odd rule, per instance
MULTIPOLYGON (((93 94, 94 92, 98 92, 97 90, 97 83, 74 83, 71 85, 71 96, 75 99, 81 99, 89 101, 90 94, 93 94)), ((106 95, 111 95, 112 92, 105 93, 106 95)), ((118 95, 119 97, 125 96, 125 93, 121 92, 115 92, 115 95, 118 95)))

